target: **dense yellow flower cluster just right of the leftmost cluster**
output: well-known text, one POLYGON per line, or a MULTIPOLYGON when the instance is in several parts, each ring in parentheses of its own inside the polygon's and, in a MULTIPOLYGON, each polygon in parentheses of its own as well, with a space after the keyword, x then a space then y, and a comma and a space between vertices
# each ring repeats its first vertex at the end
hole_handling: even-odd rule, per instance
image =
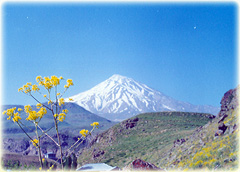
POLYGON ((24 106, 25 112, 28 114, 28 117, 26 120, 28 121, 36 121, 38 118, 42 118, 45 114, 47 114, 47 109, 45 107, 42 107, 42 104, 37 104, 37 108, 39 111, 32 110, 32 107, 30 105, 24 106))

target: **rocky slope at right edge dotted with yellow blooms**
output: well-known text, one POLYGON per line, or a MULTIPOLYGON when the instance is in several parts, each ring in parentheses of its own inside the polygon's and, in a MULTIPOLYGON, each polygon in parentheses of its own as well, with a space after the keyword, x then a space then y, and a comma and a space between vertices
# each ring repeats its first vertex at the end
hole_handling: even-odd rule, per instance
POLYGON ((221 110, 211 123, 174 145, 164 158, 167 169, 220 169, 239 167, 239 103, 240 87, 226 92, 221 110))

